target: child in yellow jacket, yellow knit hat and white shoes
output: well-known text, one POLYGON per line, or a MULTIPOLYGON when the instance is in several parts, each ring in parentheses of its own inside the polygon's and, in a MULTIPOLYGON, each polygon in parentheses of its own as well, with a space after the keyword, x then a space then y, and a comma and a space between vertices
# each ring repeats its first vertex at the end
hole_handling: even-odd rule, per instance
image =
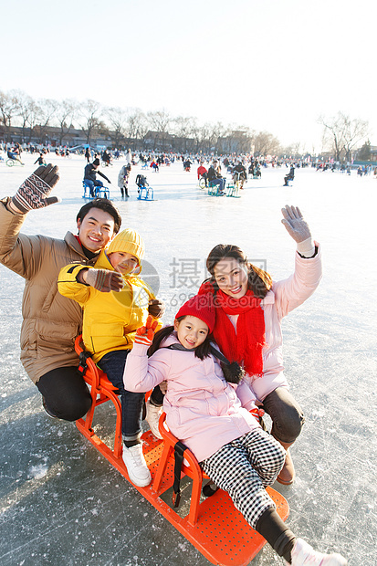
POLYGON ((135 273, 141 271, 144 242, 131 228, 123 230, 102 250, 94 266, 71 264, 58 276, 58 290, 83 309, 82 338, 93 361, 120 390, 123 460, 131 481, 148 486, 151 474, 141 449, 143 393, 124 389, 123 372, 136 330, 148 314, 162 316, 162 302, 135 273))

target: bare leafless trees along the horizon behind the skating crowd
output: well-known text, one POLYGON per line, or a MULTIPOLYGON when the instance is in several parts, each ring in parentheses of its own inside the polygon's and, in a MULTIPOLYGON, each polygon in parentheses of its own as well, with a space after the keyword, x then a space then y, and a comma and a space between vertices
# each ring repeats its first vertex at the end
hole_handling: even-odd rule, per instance
MULTIPOLYGON (((323 126, 323 148, 336 161, 351 160, 351 152, 368 135, 368 122, 351 119, 339 112, 335 117, 319 117, 323 126)), ((110 140, 112 147, 143 147, 146 135, 154 132, 154 141, 167 151, 254 153, 255 155, 301 155, 300 142, 282 147, 268 131, 255 131, 246 125, 220 121, 199 124, 194 116, 173 116, 167 110, 143 112, 139 108, 103 106, 97 100, 35 100, 22 90, 0 90, 0 127, 6 142, 11 129, 21 128, 24 142, 32 137, 44 143, 50 127, 58 129, 58 143, 64 145, 73 130, 82 131, 87 143, 93 139, 110 140), (156 135, 157 134, 157 135, 156 135)))

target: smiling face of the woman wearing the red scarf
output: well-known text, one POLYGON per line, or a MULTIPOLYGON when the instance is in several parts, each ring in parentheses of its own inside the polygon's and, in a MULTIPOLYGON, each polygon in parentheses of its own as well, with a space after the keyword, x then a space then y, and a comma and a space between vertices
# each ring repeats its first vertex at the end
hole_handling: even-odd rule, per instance
POLYGON ((214 267, 215 281, 229 297, 241 299, 247 291, 247 269, 234 257, 221 259, 214 267))

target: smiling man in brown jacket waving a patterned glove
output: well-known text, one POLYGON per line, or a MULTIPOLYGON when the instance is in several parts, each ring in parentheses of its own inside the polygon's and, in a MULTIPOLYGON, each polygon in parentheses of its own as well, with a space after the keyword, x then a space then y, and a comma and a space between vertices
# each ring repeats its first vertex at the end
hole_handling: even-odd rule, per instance
MULTIPOLYGON (((77 261, 92 266, 99 251, 119 232, 121 218, 109 200, 94 199, 79 210, 79 236, 68 232, 64 239, 57 239, 20 234, 30 210, 59 201, 48 196, 58 178, 58 167, 38 167, 15 196, 0 200, 0 262, 26 280, 21 362, 42 393, 47 413, 75 421, 91 404, 74 350, 82 313, 78 303, 58 293, 58 273, 77 261)), ((106 283, 111 286, 111 281, 106 283)))

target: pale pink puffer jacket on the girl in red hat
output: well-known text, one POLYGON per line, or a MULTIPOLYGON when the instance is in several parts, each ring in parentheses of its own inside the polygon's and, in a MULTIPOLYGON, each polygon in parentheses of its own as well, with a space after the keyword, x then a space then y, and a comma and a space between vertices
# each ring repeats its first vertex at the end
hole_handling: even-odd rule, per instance
MULTIPOLYGON (((225 382, 214 356, 200 360, 194 351, 169 350, 167 346, 174 342, 178 340, 172 334, 151 358, 147 357, 146 346, 135 343, 127 357, 124 386, 128 391, 146 392, 167 381, 163 401, 166 423, 200 462, 259 425, 241 405, 237 387, 225 382)), ((244 386, 249 409, 253 397, 244 386)))

